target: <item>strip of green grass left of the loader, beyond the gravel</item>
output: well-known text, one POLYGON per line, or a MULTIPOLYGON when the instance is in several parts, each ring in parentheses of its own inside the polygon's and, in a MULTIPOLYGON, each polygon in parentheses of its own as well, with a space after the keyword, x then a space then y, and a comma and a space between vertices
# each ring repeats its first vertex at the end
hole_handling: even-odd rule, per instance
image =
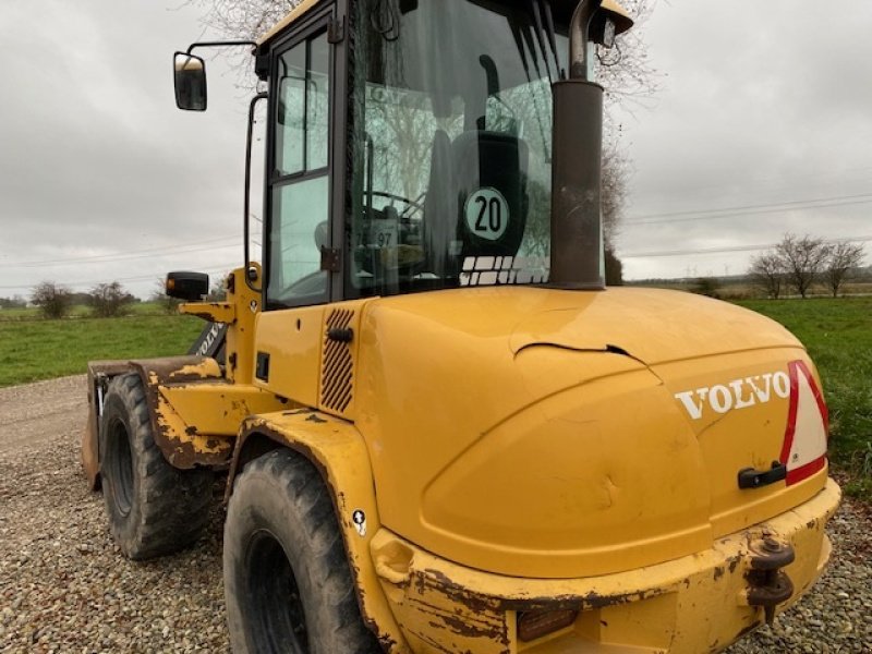
MULTIPOLYGON (((75 314, 74 314, 75 315, 75 314)), ((99 359, 184 354, 203 320, 137 305, 121 318, 38 319, 33 310, 0 313, 0 387, 85 373, 99 359)))

